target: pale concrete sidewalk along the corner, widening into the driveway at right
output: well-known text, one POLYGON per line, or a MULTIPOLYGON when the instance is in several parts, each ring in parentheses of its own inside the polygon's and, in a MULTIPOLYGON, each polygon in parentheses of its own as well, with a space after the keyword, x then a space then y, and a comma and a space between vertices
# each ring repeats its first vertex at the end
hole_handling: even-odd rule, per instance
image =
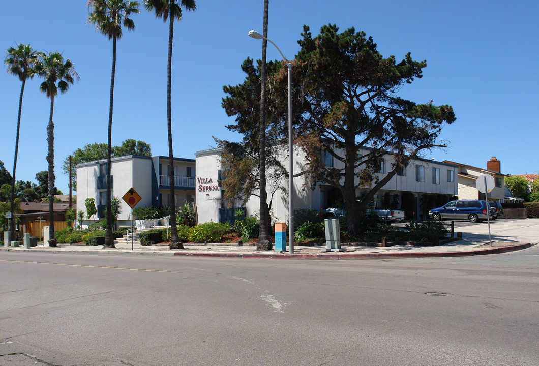
POLYGON ((153 254, 189 257, 222 258, 281 258, 281 259, 368 259, 406 257, 461 257, 466 255, 495 254, 521 250, 539 243, 539 219, 498 219, 490 223, 492 246, 489 244, 488 225, 481 223, 455 229, 462 232, 462 240, 439 246, 393 245, 389 247, 359 246, 343 243, 344 252, 325 252, 326 246, 294 245, 294 253, 273 251, 259 252, 255 246, 237 245, 184 245, 184 250, 170 250, 168 245, 116 244, 116 248, 103 249, 101 246, 59 244, 58 247, 38 245, 23 247, 0 247, 4 251, 29 251, 49 253, 85 254, 153 254))

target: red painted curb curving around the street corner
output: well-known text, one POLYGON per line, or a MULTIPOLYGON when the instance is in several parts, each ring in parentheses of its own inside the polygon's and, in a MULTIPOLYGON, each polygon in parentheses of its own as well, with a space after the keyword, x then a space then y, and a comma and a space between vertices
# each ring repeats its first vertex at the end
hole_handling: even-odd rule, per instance
POLYGON ((388 258, 432 258, 432 257, 470 257, 472 255, 499 254, 529 248, 531 243, 502 246, 466 252, 434 253, 327 253, 327 254, 286 254, 286 253, 197 253, 175 252, 183 257, 249 258, 249 259, 388 259, 388 258))

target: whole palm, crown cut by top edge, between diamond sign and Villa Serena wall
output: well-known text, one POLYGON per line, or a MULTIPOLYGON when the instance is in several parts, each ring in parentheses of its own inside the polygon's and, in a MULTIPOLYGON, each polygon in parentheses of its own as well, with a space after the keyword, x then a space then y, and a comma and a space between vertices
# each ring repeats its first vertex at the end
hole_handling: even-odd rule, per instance
POLYGON ((172 85, 172 38, 174 36, 174 19, 182 19, 182 6, 185 10, 196 10, 195 0, 144 0, 144 7, 148 11, 154 11, 157 18, 163 18, 163 22, 169 19, 169 48, 167 63, 167 126, 169 140, 169 180, 170 180, 170 248, 183 249, 178 238, 176 203, 174 202, 174 155, 172 154, 172 117, 170 108, 170 88, 172 85))

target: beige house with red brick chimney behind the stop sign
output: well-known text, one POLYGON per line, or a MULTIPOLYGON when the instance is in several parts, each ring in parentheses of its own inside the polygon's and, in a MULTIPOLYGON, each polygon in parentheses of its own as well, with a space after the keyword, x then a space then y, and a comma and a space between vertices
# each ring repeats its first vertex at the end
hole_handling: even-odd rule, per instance
POLYGON ((494 178, 494 188, 488 194, 488 201, 504 202, 505 201, 505 177, 506 174, 501 174, 501 163, 497 158, 491 157, 487 161, 487 169, 472 167, 456 163, 452 161, 444 161, 444 163, 454 164, 458 166, 458 194, 459 199, 485 199, 485 194, 479 192, 475 182, 483 174, 488 174, 494 178))

